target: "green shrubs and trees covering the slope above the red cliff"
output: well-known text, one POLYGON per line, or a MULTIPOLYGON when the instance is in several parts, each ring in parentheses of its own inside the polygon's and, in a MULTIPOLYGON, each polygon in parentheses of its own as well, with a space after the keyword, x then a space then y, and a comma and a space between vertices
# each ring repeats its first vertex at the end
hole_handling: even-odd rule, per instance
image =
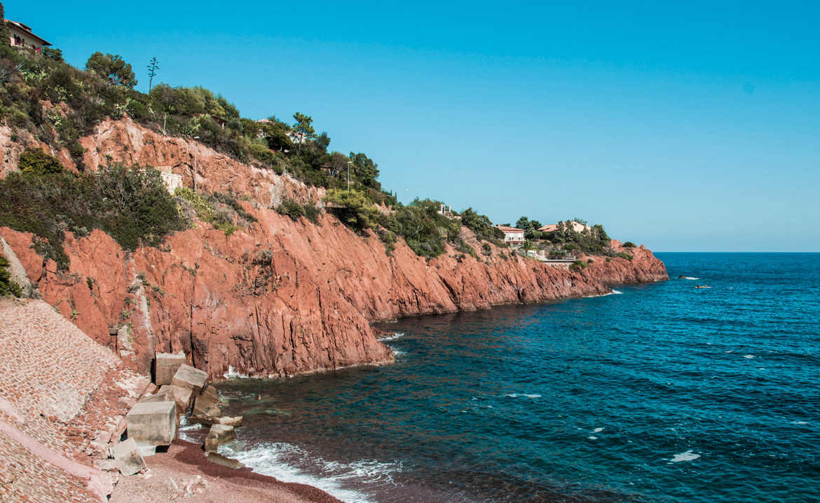
MULTIPOLYGON (((63 61, 58 49, 35 54, 3 43, 0 83, 0 120, 11 129, 12 141, 33 137, 52 152, 65 148, 79 171, 64 170, 46 150, 30 145, 20 158, 21 173, 0 181, 0 225, 34 233, 38 251, 61 268, 67 266, 65 230, 83 235, 101 229, 133 250, 141 244, 157 246, 194 220, 229 234, 255 220, 235 194, 185 189, 174 197, 151 169, 85 166, 80 138, 93 134, 102 120, 125 116, 157 133, 195 139, 238 161, 277 174, 286 171, 305 184, 326 188, 327 211, 359 233, 374 231, 388 253, 401 238, 419 256, 439 256, 447 244, 465 256, 490 255, 491 247, 476 251, 467 243, 462 225, 480 242, 500 244, 503 239, 490 219, 472 208, 441 215, 437 201, 401 204, 381 187, 375 161, 362 152, 331 151, 330 136, 317 133, 310 116, 294 113, 293 123, 275 116, 251 120, 225 97, 202 87, 161 83, 142 93, 134 88, 137 79, 130 64, 116 55, 94 52, 80 70, 63 61)), ((295 201, 272 209, 314 223, 321 213, 312 203, 295 201)), ((552 243, 556 254, 573 247, 602 252, 608 237, 602 227, 592 229, 589 235, 572 229, 549 237, 535 236, 532 229, 527 233, 533 241, 552 243)))

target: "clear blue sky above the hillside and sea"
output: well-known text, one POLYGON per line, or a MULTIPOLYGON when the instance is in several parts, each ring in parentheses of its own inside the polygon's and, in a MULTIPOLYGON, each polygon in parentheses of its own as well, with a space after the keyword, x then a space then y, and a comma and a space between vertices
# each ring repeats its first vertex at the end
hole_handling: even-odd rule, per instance
POLYGON ((146 90, 156 56, 243 116, 306 113, 403 202, 820 251, 820 2, 3 3, 75 66, 120 54, 146 90))

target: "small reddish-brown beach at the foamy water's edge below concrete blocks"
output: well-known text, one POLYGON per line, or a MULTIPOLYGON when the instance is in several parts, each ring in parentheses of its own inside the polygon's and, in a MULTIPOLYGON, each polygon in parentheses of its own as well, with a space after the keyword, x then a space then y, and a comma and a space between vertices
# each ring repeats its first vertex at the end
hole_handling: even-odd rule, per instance
POLYGON ((112 503, 144 501, 202 501, 230 503, 342 503, 316 487, 284 483, 253 473, 230 469, 205 459, 202 447, 175 440, 168 452, 145 458, 148 471, 121 477, 114 486, 112 503))

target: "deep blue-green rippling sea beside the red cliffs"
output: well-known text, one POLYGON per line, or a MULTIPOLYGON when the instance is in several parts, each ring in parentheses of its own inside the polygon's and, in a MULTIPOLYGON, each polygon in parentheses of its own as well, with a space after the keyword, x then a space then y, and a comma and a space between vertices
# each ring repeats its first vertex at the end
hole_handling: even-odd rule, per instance
POLYGON ((387 324, 395 365, 225 383, 229 454, 343 501, 820 501, 820 254, 658 257, 667 282, 387 324))

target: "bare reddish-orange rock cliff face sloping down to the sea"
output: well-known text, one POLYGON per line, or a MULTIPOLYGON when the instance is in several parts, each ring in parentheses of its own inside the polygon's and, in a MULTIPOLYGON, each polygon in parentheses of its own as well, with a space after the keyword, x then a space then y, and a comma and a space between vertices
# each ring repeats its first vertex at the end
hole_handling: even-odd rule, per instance
MULTIPOLYGON (((10 152, 6 143, 0 147, 10 152)), ((121 120, 103 122, 83 144, 86 165, 167 166, 193 186, 193 151, 180 138, 121 120)), ((71 169, 70 157, 57 153, 71 169)), ((43 300, 140 371, 150 369, 155 352, 175 351, 216 378, 229 368, 286 376, 386 363, 393 356, 371 329, 374 321, 595 295, 667 279, 663 263, 645 247, 629 250, 631 261, 599 257, 580 272, 498 247, 479 259, 448 247, 427 260, 399 240, 388 255, 375 234, 360 236, 327 213, 312 224, 269 209, 283 197, 316 202, 321 188, 202 145, 197 156, 198 188, 244 197, 241 204, 256 223, 230 235, 200 223, 160 247, 133 252, 99 230, 82 238, 66 233, 67 272, 43 261, 32 234, 0 228, 12 251, 7 258, 25 268, 43 300)), ((10 158, 6 172, 16 169, 10 158)), ((478 247, 468 229, 462 235, 478 247)), ((619 242, 612 245, 620 251, 619 242)))

